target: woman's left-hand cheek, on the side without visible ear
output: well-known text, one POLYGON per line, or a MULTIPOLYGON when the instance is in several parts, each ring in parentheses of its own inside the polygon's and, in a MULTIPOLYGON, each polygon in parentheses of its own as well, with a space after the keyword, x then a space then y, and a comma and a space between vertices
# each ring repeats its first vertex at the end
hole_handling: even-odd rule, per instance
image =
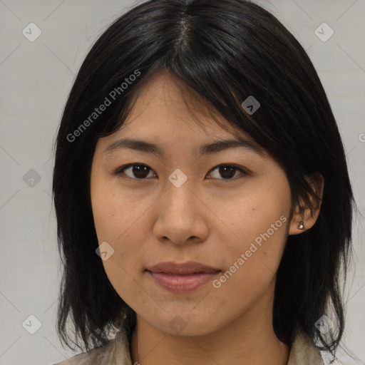
POLYGON ((129 275, 140 267, 138 257, 142 255, 141 246, 145 242, 141 227, 146 224, 147 207, 121 190, 116 180, 95 175, 91 203, 98 243, 108 242, 113 252, 110 258, 103 260, 103 266, 113 286, 124 287, 130 286, 129 275))

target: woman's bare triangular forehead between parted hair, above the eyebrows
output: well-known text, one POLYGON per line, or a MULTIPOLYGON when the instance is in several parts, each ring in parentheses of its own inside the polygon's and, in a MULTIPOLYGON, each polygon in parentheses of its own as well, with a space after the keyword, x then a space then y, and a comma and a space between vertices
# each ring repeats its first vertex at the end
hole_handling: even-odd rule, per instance
POLYGON ((248 138, 205 103, 195 90, 167 71, 155 73, 133 98, 133 108, 120 128, 123 134, 130 130, 148 131, 156 137, 161 133, 187 136, 203 133, 216 139, 238 133, 248 138))

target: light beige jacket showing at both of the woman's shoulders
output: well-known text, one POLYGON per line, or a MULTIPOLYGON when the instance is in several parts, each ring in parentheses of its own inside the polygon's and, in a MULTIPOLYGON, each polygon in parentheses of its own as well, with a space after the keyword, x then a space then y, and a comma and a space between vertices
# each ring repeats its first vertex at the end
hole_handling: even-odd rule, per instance
MULTIPOLYGON (((53 365, 134 365, 130 359, 129 339, 124 327, 106 346, 91 349, 53 365)), ((138 364, 138 363, 137 363, 138 364)), ((143 364, 142 364, 143 365, 143 364)), ((297 331, 287 365, 324 365, 321 352, 313 341, 297 331)))

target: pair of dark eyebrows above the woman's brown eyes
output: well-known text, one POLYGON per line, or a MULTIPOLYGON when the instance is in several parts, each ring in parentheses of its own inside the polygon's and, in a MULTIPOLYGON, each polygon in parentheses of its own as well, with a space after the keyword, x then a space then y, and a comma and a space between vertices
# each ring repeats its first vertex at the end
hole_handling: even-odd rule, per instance
MULTIPOLYGON (((103 154, 108 155, 123 148, 129 148, 130 150, 137 150, 143 153, 152 153, 161 157, 165 156, 165 151, 160 145, 145 140, 135 140, 131 138, 123 138, 115 141, 103 151, 103 154)), ((264 155, 264 149, 261 146, 244 138, 237 138, 236 140, 218 140, 213 143, 206 143, 200 145, 199 148, 195 148, 192 152, 194 155, 210 155, 230 148, 246 148, 258 155, 264 155)))

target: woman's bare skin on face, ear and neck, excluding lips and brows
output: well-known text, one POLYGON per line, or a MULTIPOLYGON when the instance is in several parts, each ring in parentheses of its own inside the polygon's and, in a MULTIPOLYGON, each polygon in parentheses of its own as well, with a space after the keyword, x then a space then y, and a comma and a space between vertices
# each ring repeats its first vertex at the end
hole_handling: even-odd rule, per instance
MULTIPOLYGON (((194 155, 203 143, 237 133, 248 137, 222 129, 203 106, 199 120, 204 126, 196 123, 185 103, 189 95, 183 99, 168 73, 155 74, 122 128, 98 140, 93 157, 91 202, 98 242, 114 250, 103 265, 116 292, 137 314, 132 363, 287 364, 290 348, 272 327, 277 267, 287 235, 304 232, 297 228, 301 220, 306 230, 312 227, 320 206, 312 217, 309 210, 304 217, 294 207, 290 219, 287 177, 268 155, 247 148, 194 155), (157 143, 165 156, 126 148, 103 153, 122 137, 157 143), (132 168, 113 174, 130 163, 148 166, 145 180, 138 180, 132 168), (217 166, 226 164, 249 173, 232 170, 232 178, 225 179, 217 166), (187 177, 179 188, 168 180, 177 168, 187 177), (145 272, 158 262, 190 260, 226 272, 281 216, 286 222, 256 245, 219 288, 209 282, 193 292, 172 293, 145 272), (177 316, 185 324, 180 331, 170 325, 177 316)), ((323 178, 321 183, 322 196, 323 178)))

